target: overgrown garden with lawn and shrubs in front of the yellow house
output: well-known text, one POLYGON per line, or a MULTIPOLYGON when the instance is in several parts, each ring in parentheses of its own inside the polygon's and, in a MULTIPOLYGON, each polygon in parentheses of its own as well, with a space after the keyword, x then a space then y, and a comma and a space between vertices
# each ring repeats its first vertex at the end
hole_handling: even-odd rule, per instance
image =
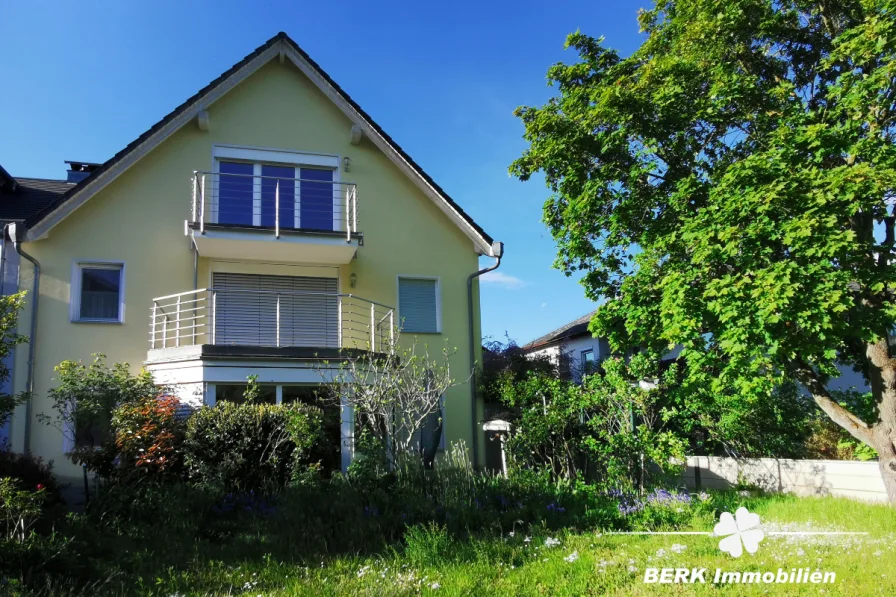
POLYGON ((388 371, 380 361, 377 376, 402 383, 391 379, 379 392, 339 376, 322 387, 321 395, 356 392, 355 407, 367 405, 346 474, 321 464, 337 449, 324 433, 325 400, 267 404, 249 379, 241 399, 187 414, 123 364, 99 356, 61 364, 51 397, 57 416, 45 422, 92 430, 70 457, 100 482, 83 512, 69 512, 50 466, 0 452, 0 591, 654 594, 682 588, 645 583, 648 570, 706 568, 708 582, 687 590, 801 594, 819 587, 714 585, 712 571, 807 567, 836 575, 822 589, 832 594, 896 591, 886 565, 896 515, 886 506, 681 487, 675 462, 686 442, 662 422, 663 382, 652 391, 631 383, 649 367, 639 358, 605 363, 581 386, 537 361, 492 368, 494 378, 480 381, 518 426, 506 440, 508 474, 474 470, 462 443, 430 461, 426 417, 376 405, 396 386, 420 395, 455 383, 440 369, 444 356, 405 352, 388 371), (390 442, 390 434, 418 439, 390 442), (709 533, 739 507, 770 534, 756 554, 735 559, 709 533))

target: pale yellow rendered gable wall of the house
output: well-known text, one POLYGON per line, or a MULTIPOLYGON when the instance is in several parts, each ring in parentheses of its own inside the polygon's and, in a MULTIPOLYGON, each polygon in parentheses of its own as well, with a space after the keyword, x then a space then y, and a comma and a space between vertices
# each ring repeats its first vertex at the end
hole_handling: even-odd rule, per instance
MULTIPOLYGON (((192 121, 171 134, 111 184, 62 220, 42 239, 23 249, 40 261, 39 319, 34 363, 33 415, 48 413, 47 391, 54 367, 66 359, 87 361, 104 353, 110 362, 139 370, 149 348, 150 306, 154 297, 194 288, 194 257, 184 234, 189 217, 194 170, 212 170, 212 148, 230 145, 337 155, 351 159, 342 179, 357 184, 359 229, 364 244, 338 268, 340 292, 351 292, 397 306, 397 277, 437 276, 442 333, 421 335, 434 350, 444 341, 457 353, 452 370, 460 385, 446 396, 445 432, 449 442, 472 434, 470 412, 467 277, 478 269, 474 245, 408 176, 367 138, 351 144, 352 122, 289 61, 272 60, 205 107, 207 131, 192 121), (70 288, 76 261, 122 261, 124 322, 73 323, 70 288), (349 289, 354 274, 356 286, 349 289)), ((211 286, 212 271, 289 274, 313 271, 318 264, 212 261, 200 258, 198 287, 211 286)), ((32 270, 22 261, 20 287, 30 289, 32 270)), ((478 286, 475 337, 479 338, 478 286)), ((27 329, 31 301, 20 316, 27 329)), ((475 345, 478 347, 479 342, 475 345)), ((27 346, 18 351, 14 383, 23 390, 27 346)), ((24 447, 23 409, 13 420, 14 449, 24 447)), ((478 417, 477 417, 478 419, 478 417)), ((80 471, 63 454, 56 429, 31 422, 32 451, 55 461, 62 477, 80 471)))

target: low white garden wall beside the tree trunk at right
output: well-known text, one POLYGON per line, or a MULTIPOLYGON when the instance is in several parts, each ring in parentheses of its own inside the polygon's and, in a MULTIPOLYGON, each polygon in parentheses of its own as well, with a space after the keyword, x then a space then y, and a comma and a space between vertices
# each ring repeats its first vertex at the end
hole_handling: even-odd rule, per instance
POLYGON ((690 489, 730 489, 738 482, 799 496, 839 496, 886 502, 877 462, 854 460, 735 460, 689 456, 684 483, 690 489))

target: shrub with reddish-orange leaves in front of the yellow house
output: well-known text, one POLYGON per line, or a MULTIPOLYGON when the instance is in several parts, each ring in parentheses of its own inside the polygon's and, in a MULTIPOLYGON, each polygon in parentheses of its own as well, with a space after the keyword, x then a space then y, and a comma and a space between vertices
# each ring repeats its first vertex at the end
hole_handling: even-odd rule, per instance
POLYGON ((183 472, 186 421, 173 396, 145 396, 112 413, 119 471, 128 475, 177 478, 183 472))

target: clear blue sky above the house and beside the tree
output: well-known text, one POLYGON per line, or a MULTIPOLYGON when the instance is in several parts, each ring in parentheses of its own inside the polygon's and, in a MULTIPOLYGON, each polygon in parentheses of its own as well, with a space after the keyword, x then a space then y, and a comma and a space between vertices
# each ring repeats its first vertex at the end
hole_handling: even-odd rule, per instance
POLYGON ((380 4, 8 2, 0 164, 63 178, 66 159, 105 161, 283 30, 504 241, 498 275, 483 284, 485 335, 522 343, 593 309, 551 267, 543 181, 507 174, 526 147, 512 112, 550 97, 547 68, 574 59, 563 51, 568 33, 632 52, 647 3, 380 4))

